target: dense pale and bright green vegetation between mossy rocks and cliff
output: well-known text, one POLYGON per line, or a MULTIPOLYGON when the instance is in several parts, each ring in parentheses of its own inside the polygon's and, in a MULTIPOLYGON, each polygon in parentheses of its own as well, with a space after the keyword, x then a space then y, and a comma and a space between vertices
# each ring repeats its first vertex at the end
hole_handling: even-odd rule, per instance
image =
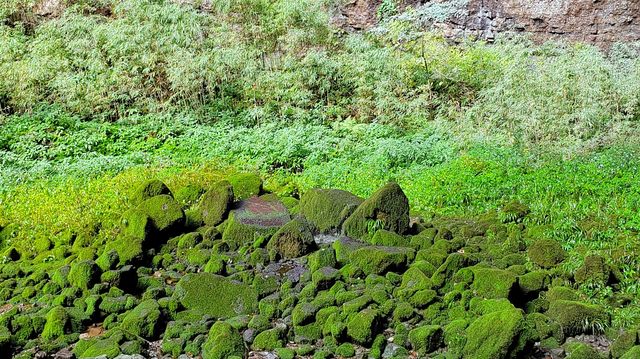
POLYGON ((451 44, 428 24, 455 6, 384 3, 364 33, 333 27, 330 1, 0 4, 5 259, 84 258, 55 248, 108 244, 152 178, 175 192, 250 171, 294 197, 393 180, 427 221, 526 204, 564 270, 619 269, 615 288, 574 288, 607 335, 640 324, 640 48, 451 44))

